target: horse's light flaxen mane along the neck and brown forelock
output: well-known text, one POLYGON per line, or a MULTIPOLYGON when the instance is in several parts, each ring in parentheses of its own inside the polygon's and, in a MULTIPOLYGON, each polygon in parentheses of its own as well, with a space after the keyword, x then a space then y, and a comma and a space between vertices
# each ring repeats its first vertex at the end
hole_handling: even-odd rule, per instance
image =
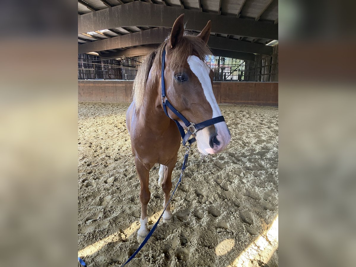
MULTIPOLYGON (((138 68, 135 81, 133 82, 133 100, 137 106, 141 106, 147 86, 148 75, 152 74, 152 85, 156 84, 161 78, 162 52, 169 41, 169 36, 164 42, 150 54, 147 55, 145 62, 138 68)), ((197 38, 191 33, 184 32, 182 40, 172 49, 170 60, 166 62, 166 68, 176 69, 180 71, 183 68, 187 58, 192 54, 197 55, 201 60, 205 61, 207 55, 211 54, 210 49, 206 46, 201 38, 197 38)))

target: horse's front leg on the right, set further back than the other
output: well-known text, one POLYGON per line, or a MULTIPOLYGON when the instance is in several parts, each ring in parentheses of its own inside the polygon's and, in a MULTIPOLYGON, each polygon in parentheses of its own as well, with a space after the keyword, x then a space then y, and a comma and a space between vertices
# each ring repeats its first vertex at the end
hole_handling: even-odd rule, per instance
MULTIPOLYGON (((163 208, 167 205, 169 198, 170 198, 170 192, 172 189, 172 172, 173 168, 176 166, 177 158, 171 162, 168 163, 167 166, 163 166, 164 170, 164 178, 162 181, 162 190, 164 192, 164 202, 163 202, 163 208)), ((163 221, 166 223, 172 223, 173 222, 173 215, 171 213, 171 203, 168 204, 167 209, 163 213, 163 221)))

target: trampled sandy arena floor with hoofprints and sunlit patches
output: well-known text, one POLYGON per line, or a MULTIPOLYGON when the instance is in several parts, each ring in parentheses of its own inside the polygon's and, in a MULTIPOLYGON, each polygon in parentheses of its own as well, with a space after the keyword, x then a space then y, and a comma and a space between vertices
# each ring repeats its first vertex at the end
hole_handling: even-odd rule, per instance
MULTIPOLYGON (((139 245, 140 181, 125 124, 128 107, 79 103, 78 255, 90 267, 121 266, 139 245)), ((202 161, 193 149, 172 199, 174 222, 161 221, 127 266, 278 266, 278 108, 220 108, 231 143, 202 161)), ((183 149, 173 186, 182 155, 183 149)), ((150 172, 149 229, 162 211, 158 169, 150 172)))

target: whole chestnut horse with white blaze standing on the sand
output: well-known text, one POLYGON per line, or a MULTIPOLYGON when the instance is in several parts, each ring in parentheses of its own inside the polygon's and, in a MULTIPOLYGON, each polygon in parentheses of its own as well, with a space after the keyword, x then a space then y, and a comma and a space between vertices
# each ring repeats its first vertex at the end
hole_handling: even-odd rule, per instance
MULTIPOLYGON (((178 17, 171 35, 155 51, 148 54, 145 63, 138 70, 133 85, 133 101, 126 113, 132 153, 141 182, 141 227, 137 232, 139 242, 148 234, 150 169, 155 163, 161 164, 158 184, 162 185, 165 207, 170 198, 171 176, 176 166, 181 138, 174 120, 187 129, 171 109, 167 109, 169 117, 163 110, 165 105, 161 95, 163 50, 166 99, 174 108, 187 120, 195 123, 222 116, 213 94, 213 71, 204 62, 206 55, 211 54, 206 46, 211 22, 208 22, 199 35, 192 36, 184 34, 183 18, 184 15, 178 17)), ((226 123, 221 120, 195 132, 193 136, 197 140, 199 152, 204 155, 222 151, 231 138, 226 123)), ((173 221, 170 204, 164 211, 163 220, 173 221)))

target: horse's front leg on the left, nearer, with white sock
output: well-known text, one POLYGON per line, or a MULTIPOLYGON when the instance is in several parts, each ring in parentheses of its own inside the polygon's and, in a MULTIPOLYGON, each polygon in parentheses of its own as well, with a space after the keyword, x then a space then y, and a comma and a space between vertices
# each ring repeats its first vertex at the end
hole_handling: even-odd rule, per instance
POLYGON ((150 177, 150 168, 146 168, 144 164, 142 164, 137 158, 135 159, 136 163, 136 170, 138 173, 138 177, 140 177, 140 202, 141 202, 141 219, 140 219, 140 224, 141 227, 137 231, 137 241, 141 243, 143 239, 148 234, 147 230, 147 223, 148 223, 148 217, 147 217, 147 204, 150 201, 151 198, 151 192, 150 189, 148 189, 148 180, 150 177))

